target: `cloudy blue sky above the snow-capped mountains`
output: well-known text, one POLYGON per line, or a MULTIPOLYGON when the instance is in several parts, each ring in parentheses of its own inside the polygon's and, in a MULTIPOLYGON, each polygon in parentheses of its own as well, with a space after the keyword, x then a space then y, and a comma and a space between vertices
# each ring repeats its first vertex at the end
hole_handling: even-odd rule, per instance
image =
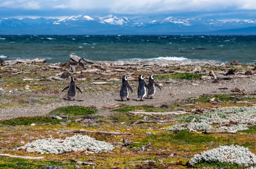
POLYGON ((256 0, 0 0, 0 18, 72 15, 256 19, 256 0))

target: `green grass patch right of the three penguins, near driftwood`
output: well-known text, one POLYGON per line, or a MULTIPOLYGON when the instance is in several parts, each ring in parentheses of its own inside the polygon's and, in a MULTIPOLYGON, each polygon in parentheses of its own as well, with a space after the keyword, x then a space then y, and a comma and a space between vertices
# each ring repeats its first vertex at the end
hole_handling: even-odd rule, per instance
POLYGON ((194 80, 200 79, 202 74, 195 74, 195 73, 173 73, 173 74, 163 74, 163 75, 156 75, 154 79, 187 79, 187 80, 194 80))

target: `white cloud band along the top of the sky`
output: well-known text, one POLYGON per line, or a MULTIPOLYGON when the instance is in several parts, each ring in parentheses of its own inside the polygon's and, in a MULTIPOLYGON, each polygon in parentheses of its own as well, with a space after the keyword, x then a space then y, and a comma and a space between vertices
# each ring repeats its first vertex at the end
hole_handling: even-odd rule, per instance
POLYGON ((1 0, 0 7, 25 9, 105 9, 119 14, 254 10, 256 0, 1 0))

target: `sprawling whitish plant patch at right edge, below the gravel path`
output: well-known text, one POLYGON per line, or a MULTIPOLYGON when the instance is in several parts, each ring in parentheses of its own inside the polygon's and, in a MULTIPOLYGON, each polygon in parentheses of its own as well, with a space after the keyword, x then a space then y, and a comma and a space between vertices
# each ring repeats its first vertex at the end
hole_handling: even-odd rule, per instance
POLYGON ((247 130, 248 124, 256 123, 256 106, 221 107, 203 115, 186 115, 178 117, 175 120, 183 123, 168 127, 167 130, 210 130, 211 127, 209 126, 214 124, 221 126, 215 128, 215 130, 247 130), (193 118, 195 118, 195 122, 190 124, 189 122, 193 118), (226 127, 224 126, 226 124, 228 124, 227 126, 230 124, 233 126, 226 127))

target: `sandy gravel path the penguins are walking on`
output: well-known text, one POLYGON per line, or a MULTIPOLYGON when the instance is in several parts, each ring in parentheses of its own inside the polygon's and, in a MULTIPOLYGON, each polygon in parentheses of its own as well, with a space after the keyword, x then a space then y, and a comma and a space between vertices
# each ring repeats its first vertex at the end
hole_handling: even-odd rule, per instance
MULTIPOLYGON (((212 83, 212 80, 201 81, 201 80, 177 80, 175 84, 163 84, 162 90, 157 89, 157 93, 154 99, 145 99, 145 101, 137 101, 137 83, 133 82, 131 87, 134 93, 130 93, 130 101, 120 101, 119 89, 115 92, 111 91, 97 91, 94 93, 83 93, 78 94, 77 100, 84 101, 68 101, 61 99, 66 93, 61 93, 59 95, 61 103, 52 103, 44 105, 31 105, 28 107, 12 107, 8 109, 0 109, 0 119, 9 119, 19 116, 35 116, 43 115, 49 111, 63 106, 69 105, 81 105, 81 106, 91 106, 94 105, 99 109, 97 115, 109 115, 112 112, 109 110, 102 110, 102 105, 110 105, 117 103, 124 103, 127 105, 162 105, 164 103, 169 103, 175 101, 175 99, 186 99, 188 97, 200 96, 202 94, 215 94, 216 93, 231 93, 230 90, 237 86, 239 89, 246 89, 247 93, 254 93, 256 90, 256 77, 248 79, 232 79, 232 80, 222 80, 220 83, 212 83), (198 84, 198 85, 192 85, 198 84), (227 90, 219 90, 218 88, 227 87, 227 90), (189 93, 190 92, 190 93, 189 93), (170 93, 176 93, 175 96, 170 96, 170 93)), ((54 94, 52 94, 54 96, 54 94)))

